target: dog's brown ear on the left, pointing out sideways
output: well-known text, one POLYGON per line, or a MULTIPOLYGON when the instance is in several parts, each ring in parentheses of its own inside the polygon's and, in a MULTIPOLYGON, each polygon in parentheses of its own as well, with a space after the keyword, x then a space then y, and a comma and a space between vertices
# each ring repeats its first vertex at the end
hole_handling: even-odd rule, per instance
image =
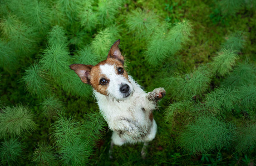
POLYGON ((92 65, 73 64, 70 69, 76 72, 83 83, 90 84, 92 65))

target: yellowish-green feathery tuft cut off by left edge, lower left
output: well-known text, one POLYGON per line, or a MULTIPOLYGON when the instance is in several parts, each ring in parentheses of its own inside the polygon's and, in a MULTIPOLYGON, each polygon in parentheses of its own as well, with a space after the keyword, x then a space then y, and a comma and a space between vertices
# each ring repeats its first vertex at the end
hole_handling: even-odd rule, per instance
POLYGON ((27 106, 4 107, 0 113, 0 138, 22 136, 24 132, 33 131, 36 123, 27 106))

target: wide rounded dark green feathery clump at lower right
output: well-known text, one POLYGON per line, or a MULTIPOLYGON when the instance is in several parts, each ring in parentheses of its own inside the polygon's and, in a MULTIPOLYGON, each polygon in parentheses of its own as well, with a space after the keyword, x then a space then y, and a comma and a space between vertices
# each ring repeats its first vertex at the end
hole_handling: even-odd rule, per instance
POLYGON ((208 153, 229 146, 234 126, 215 117, 198 117, 179 134, 179 144, 191 153, 208 153))

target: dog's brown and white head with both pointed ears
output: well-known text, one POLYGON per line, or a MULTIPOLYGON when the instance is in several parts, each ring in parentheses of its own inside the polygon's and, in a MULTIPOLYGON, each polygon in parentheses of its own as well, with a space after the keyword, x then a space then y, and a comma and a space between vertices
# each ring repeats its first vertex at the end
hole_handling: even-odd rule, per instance
POLYGON ((100 94, 124 100, 134 91, 124 69, 124 56, 119 49, 120 39, 110 48, 107 59, 99 64, 73 64, 70 68, 76 72, 83 83, 90 84, 100 94))

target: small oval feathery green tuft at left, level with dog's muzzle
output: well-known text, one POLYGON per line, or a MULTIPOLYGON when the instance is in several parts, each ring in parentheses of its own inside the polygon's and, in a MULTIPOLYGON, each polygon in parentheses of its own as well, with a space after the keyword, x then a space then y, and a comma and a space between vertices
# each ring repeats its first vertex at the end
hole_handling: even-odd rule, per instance
POLYGON ((39 64, 31 65, 25 71, 22 82, 26 90, 39 97, 44 97, 51 92, 50 85, 47 82, 47 73, 42 70, 39 64))

